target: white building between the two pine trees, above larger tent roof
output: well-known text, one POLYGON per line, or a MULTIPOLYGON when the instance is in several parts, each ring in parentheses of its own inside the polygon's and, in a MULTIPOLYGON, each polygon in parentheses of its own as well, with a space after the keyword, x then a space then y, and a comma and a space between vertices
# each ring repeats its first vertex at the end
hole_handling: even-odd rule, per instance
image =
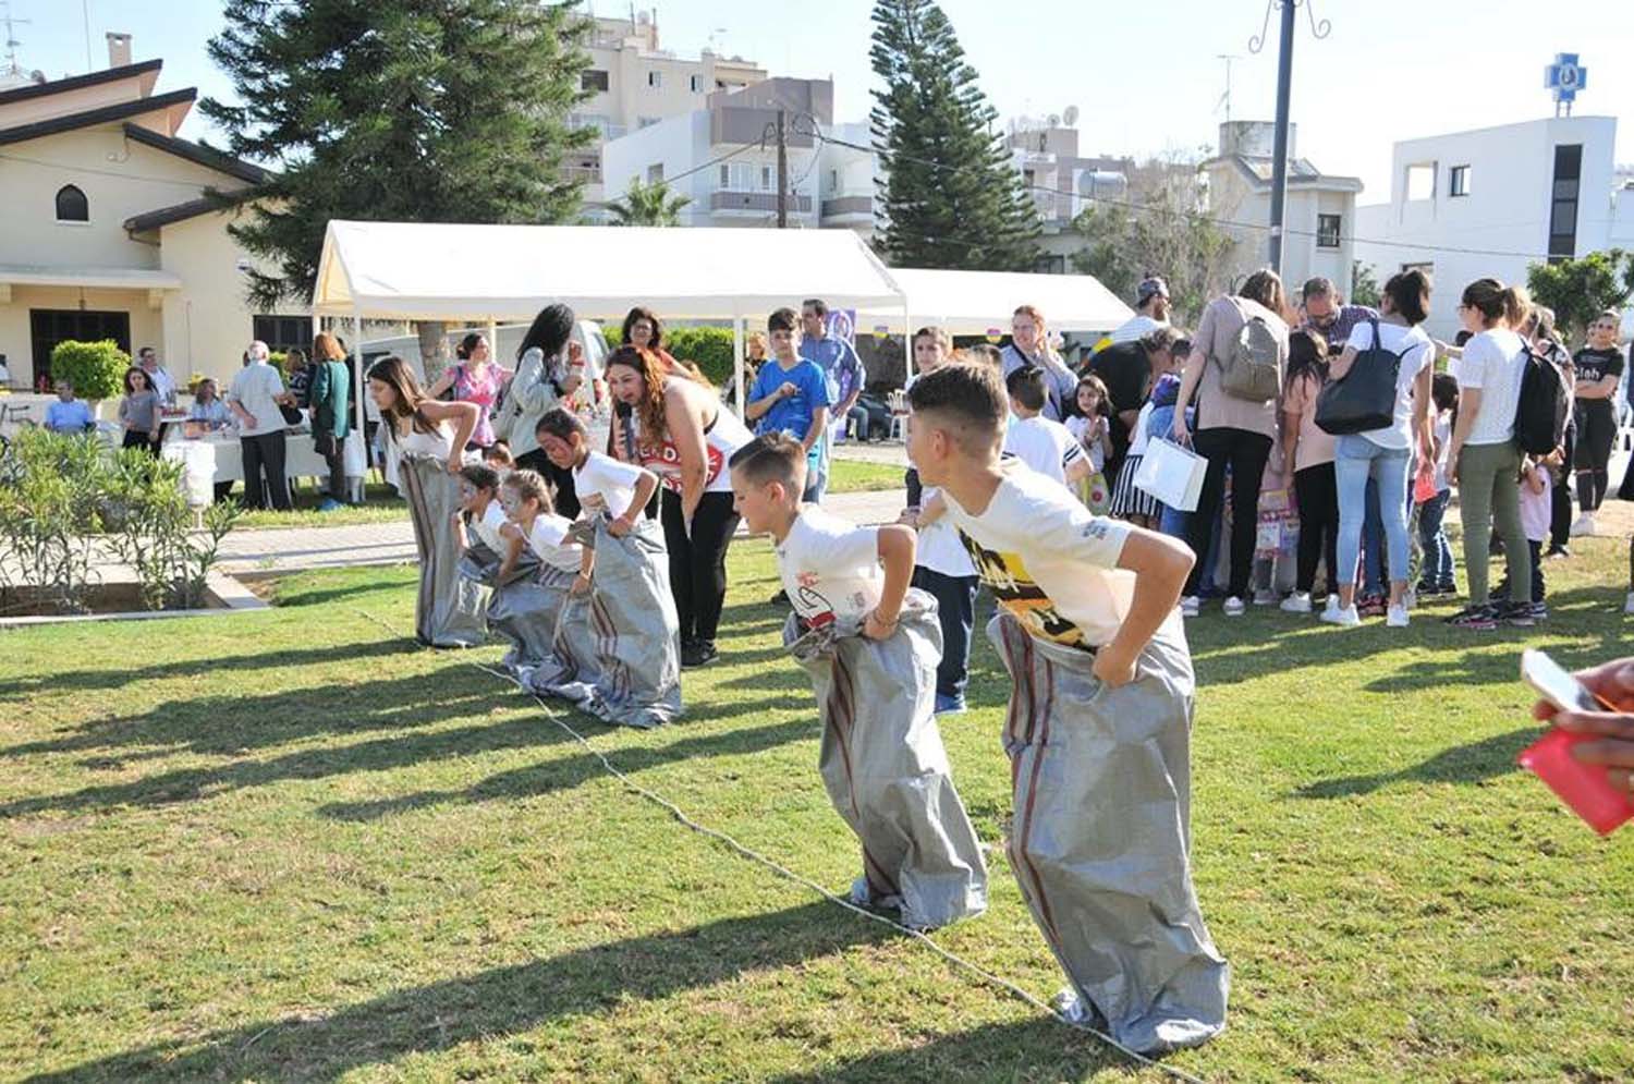
POLYGON ((632 180, 665 181, 688 198, 683 226, 775 226, 778 217, 778 110, 788 144, 791 229, 874 226, 874 155, 817 139, 819 131, 868 146, 863 124, 833 124, 833 83, 770 78, 709 95, 701 110, 649 124, 603 147, 609 198, 632 180))

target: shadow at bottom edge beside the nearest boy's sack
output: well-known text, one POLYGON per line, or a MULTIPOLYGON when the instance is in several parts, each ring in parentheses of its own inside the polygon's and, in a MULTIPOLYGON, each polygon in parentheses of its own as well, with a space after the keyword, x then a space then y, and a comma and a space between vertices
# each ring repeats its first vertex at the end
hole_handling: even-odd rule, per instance
POLYGON ((886 1050, 771 1084, 895 1084, 897 1081, 1083 1081, 1101 1069, 1132 1068, 1106 1043, 1044 1017, 985 1024, 907 1050, 886 1050))

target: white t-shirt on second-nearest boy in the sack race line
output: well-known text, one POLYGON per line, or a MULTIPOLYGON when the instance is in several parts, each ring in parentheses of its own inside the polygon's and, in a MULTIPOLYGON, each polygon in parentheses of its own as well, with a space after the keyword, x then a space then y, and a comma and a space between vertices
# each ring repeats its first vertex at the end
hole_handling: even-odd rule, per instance
POLYGON ((802 505, 776 548, 778 572, 794 611, 807 621, 859 618, 879 605, 879 528, 858 526, 817 505, 802 505))

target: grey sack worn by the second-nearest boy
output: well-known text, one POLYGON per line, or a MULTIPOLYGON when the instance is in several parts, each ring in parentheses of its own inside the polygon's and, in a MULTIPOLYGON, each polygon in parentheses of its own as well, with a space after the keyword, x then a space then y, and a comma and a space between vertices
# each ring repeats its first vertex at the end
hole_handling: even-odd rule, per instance
POLYGON ((900 907, 917 929, 985 911, 987 865, 936 729, 936 600, 910 590, 882 641, 856 618, 802 634, 791 613, 783 643, 817 693, 824 786, 863 844, 853 898, 900 907))

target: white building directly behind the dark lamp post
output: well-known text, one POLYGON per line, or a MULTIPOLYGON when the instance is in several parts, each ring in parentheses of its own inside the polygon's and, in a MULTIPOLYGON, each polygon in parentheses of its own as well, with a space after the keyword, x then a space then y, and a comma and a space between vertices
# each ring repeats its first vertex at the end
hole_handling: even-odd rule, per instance
MULTIPOLYGON (((1356 195, 1361 180, 1332 177, 1296 150, 1297 124, 1288 131, 1288 198, 1283 204, 1283 281, 1297 291, 1310 278, 1332 280, 1350 296, 1356 257, 1356 195)), ((1209 214, 1235 240, 1232 265, 1239 273, 1266 265, 1271 222, 1271 172, 1275 124, 1227 121, 1221 124, 1219 155, 1203 163, 1208 175, 1209 214), (1237 222, 1240 226, 1232 226, 1237 222)))

